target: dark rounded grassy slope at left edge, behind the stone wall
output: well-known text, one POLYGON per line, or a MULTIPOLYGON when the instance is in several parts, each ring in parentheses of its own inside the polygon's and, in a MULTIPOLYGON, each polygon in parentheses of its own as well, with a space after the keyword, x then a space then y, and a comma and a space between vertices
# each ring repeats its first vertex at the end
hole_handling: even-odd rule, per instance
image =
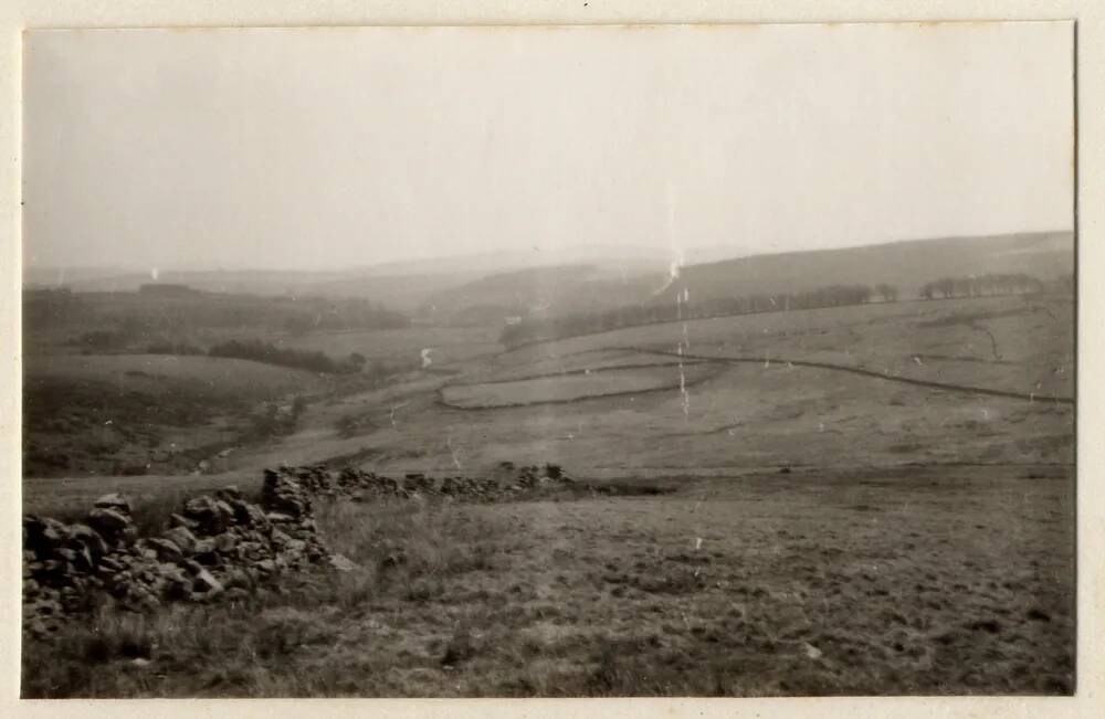
POLYGON ((191 472, 256 434, 265 404, 327 388, 311 372, 211 357, 46 355, 24 366, 30 476, 191 472))

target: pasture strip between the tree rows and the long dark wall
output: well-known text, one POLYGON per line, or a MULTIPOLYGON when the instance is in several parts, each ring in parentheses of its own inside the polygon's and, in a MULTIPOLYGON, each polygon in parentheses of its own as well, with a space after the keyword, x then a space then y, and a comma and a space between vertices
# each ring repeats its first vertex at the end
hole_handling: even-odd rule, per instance
POLYGON ((876 303, 631 327, 543 342, 496 358, 501 367, 550 355, 645 349, 765 363, 804 360, 923 381, 1072 398, 1070 297, 981 297, 876 303))

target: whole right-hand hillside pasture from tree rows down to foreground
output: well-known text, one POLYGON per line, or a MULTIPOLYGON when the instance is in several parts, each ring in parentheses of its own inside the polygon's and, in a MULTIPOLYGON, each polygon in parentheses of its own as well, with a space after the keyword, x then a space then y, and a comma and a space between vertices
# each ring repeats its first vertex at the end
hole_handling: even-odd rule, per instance
POLYGON ((366 466, 392 470, 481 470, 523 456, 581 474, 1066 464, 1074 459, 1074 410, 1054 395, 1073 391, 1072 311, 1069 300, 1052 298, 886 303, 543 342, 455 364, 460 374, 441 390, 444 404, 406 405, 394 422, 349 442, 367 452, 366 466), (697 358, 684 360, 685 377, 696 378, 685 394, 681 342, 697 358), (729 357, 753 361, 709 361, 729 357), (612 381, 636 377, 666 377, 667 384, 612 381), (550 400, 567 403, 544 404, 550 400))

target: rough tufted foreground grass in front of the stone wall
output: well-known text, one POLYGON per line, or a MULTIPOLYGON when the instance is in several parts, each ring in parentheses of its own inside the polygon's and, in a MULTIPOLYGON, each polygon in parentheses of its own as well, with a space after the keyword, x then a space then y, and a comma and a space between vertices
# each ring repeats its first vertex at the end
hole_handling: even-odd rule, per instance
MULTIPOLYGON (((992 479, 992 478, 991 478, 992 479)), ((27 697, 1069 694, 1070 483, 802 483, 319 503, 362 565, 104 611, 27 697)))

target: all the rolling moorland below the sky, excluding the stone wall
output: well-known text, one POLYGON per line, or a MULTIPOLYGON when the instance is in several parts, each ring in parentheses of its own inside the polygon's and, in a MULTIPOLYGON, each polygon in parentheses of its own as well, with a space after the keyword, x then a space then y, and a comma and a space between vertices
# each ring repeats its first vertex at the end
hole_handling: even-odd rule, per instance
MULTIPOLYGON (((504 318, 547 318, 549 303, 460 276, 446 306, 497 320, 398 326, 335 299, 328 326, 304 326, 301 308, 322 305, 200 294, 172 302, 269 314, 135 323, 128 293, 73 292, 78 320, 25 325, 28 512, 124 491, 136 514, 168 515, 228 484, 255 495, 280 464, 443 477, 549 463, 618 493, 320 500, 319 530, 357 571, 152 614, 103 607, 25 643, 24 694, 1071 692, 1070 235, 1065 264, 1060 235, 841 252, 691 266, 665 292, 718 296, 711 277, 775 263, 802 269, 730 294, 832 276, 897 298, 517 346, 501 342, 504 318), (1039 283, 922 299, 949 262, 1039 283), (90 346, 94 332, 114 343, 90 346), (232 340, 259 340, 256 359, 211 355, 232 340)), ((652 287, 649 272, 619 292, 652 287)), ((641 302, 667 302, 653 290, 641 302)))

